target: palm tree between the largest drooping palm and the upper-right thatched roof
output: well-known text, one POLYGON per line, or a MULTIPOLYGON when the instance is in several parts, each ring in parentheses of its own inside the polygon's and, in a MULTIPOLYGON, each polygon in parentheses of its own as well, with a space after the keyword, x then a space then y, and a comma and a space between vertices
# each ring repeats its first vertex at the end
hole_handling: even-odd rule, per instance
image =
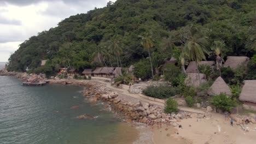
POLYGON ((217 69, 219 70, 219 76, 222 76, 222 72, 220 71, 220 68, 222 68, 222 50, 225 47, 224 41, 216 40, 213 42, 211 46, 211 50, 213 51, 214 55, 216 56, 216 64, 217 69))

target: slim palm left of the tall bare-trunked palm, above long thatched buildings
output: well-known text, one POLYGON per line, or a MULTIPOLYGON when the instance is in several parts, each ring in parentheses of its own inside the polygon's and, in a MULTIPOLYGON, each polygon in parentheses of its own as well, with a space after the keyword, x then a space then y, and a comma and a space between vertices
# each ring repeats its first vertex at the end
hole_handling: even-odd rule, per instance
POLYGON ((118 40, 117 35, 114 35, 114 37, 111 39, 110 45, 109 45, 109 50, 112 51, 115 56, 117 57, 117 64, 119 67, 119 61, 122 67, 122 63, 121 63, 121 59, 120 59, 120 55, 121 53, 123 53, 123 49, 120 46, 120 41, 118 40))

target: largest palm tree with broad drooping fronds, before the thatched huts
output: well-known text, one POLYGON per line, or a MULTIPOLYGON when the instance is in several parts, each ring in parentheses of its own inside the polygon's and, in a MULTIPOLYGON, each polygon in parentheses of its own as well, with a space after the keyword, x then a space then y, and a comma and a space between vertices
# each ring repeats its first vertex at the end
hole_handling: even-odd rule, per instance
MULTIPOLYGON (((206 60, 205 53, 208 51, 205 47, 207 45, 207 37, 202 33, 202 29, 195 27, 193 25, 188 26, 188 34, 185 35, 184 41, 184 52, 188 56, 190 61, 196 62, 197 74, 199 76, 198 63, 202 60, 206 60)), ((201 79, 199 76, 201 83, 201 79)))

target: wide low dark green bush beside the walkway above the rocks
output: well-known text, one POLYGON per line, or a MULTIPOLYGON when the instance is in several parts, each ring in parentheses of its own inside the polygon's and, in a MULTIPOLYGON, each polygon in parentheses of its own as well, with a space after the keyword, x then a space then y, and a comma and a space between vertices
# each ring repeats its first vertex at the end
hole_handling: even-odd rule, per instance
POLYGON ((143 94, 147 95, 148 97, 165 99, 179 94, 179 89, 167 85, 149 86, 143 90, 143 94))

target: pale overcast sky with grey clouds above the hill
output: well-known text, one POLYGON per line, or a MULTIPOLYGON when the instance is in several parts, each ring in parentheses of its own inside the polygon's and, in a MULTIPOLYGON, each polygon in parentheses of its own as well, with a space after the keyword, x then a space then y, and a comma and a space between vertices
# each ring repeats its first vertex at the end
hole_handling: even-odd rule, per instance
MULTIPOLYGON (((0 62, 19 44, 61 20, 107 5, 109 0, 0 0, 0 62)), ((113 0, 112 2, 115 2, 113 0)))

